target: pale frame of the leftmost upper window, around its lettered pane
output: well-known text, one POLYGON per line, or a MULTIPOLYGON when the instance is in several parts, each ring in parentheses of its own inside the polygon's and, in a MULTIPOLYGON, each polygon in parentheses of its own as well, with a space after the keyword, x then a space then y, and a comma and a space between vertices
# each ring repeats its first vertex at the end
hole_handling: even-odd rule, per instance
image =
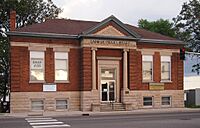
POLYGON ((30 50, 29 51, 29 83, 45 83, 45 51, 37 51, 37 50, 30 50), (39 57, 32 57, 31 53, 42 53, 43 57, 39 58, 39 57), (43 60, 43 66, 42 66, 42 71, 43 71, 43 80, 32 80, 31 79, 31 71, 35 70, 32 69, 31 64, 32 64, 32 59, 38 59, 38 60, 43 60))

